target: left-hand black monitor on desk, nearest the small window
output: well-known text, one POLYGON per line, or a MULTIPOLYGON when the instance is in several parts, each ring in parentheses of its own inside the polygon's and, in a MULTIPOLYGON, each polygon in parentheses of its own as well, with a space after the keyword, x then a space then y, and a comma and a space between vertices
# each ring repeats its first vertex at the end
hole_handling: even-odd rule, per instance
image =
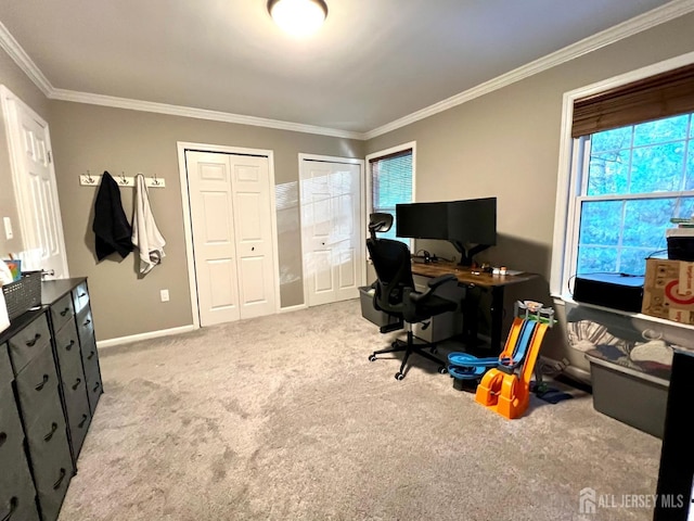
POLYGON ((396 204, 395 234, 408 239, 448 239, 446 203, 396 204))

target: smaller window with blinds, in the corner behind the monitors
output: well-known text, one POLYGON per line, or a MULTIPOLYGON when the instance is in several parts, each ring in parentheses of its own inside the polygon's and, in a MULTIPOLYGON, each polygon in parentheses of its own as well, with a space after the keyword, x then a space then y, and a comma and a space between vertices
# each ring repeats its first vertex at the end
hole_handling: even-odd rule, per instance
MULTIPOLYGON (((371 154, 369 162, 369 213, 391 214, 393 228, 381 237, 395 236, 395 205, 414 200, 414 143, 371 154)), ((400 239, 398 239, 400 240, 400 239)), ((409 244, 409 240, 402 240, 409 244)))

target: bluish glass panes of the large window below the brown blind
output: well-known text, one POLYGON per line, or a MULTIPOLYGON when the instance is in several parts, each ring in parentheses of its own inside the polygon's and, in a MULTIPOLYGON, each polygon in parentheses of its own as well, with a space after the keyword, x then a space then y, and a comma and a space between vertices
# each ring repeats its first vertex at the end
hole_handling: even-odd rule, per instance
POLYGON ((576 205, 576 274, 644 275, 645 258, 667 251, 670 219, 694 213, 692 114, 604 130, 582 141, 588 165, 576 205))

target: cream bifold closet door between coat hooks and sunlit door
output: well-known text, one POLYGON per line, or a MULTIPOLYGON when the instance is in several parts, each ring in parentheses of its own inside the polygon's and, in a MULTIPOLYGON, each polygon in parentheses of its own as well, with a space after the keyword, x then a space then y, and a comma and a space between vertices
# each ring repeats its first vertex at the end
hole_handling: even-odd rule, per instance
POLYGON ((201 326, 275 313, 269 160, 185 152, 201 326))

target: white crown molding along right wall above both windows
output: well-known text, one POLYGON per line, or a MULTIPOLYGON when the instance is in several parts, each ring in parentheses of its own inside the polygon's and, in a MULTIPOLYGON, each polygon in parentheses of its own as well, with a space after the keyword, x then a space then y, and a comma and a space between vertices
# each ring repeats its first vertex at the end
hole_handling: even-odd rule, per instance
POLYGON ((655 27, 656 25, 660 25, 684 14, 689 14, 692 11, 694 11, 694 0, 674 0, 660 8, 656 8, 647 13, 643 13, 631 20, 622 22, 621 24, 615 25, 609 29, 605 29, 596 35, 584 38, 576 43, 565 47, 564 49, 548 54, 547 56, 540 58, 539 60, 515 68, 506 74, 497 76, 489 81, 479 84, 472 89, 460 92, 446 100, 439 101, 438 103, 434 103, 421 111, 413 112, 412 114, 390 122, 378 128, 369 130, 368 132, 364 132, 364 139, 372 139, 407 125, 411 125, 421 119, 447 111, 467 101, 474 100, 475 98, 488 94, 535 74, 550 69, 576 58, 582 56, 583 54, 588 54, 597 49, 609 46, 611 43, 615 43, 643 30, 655 27))

